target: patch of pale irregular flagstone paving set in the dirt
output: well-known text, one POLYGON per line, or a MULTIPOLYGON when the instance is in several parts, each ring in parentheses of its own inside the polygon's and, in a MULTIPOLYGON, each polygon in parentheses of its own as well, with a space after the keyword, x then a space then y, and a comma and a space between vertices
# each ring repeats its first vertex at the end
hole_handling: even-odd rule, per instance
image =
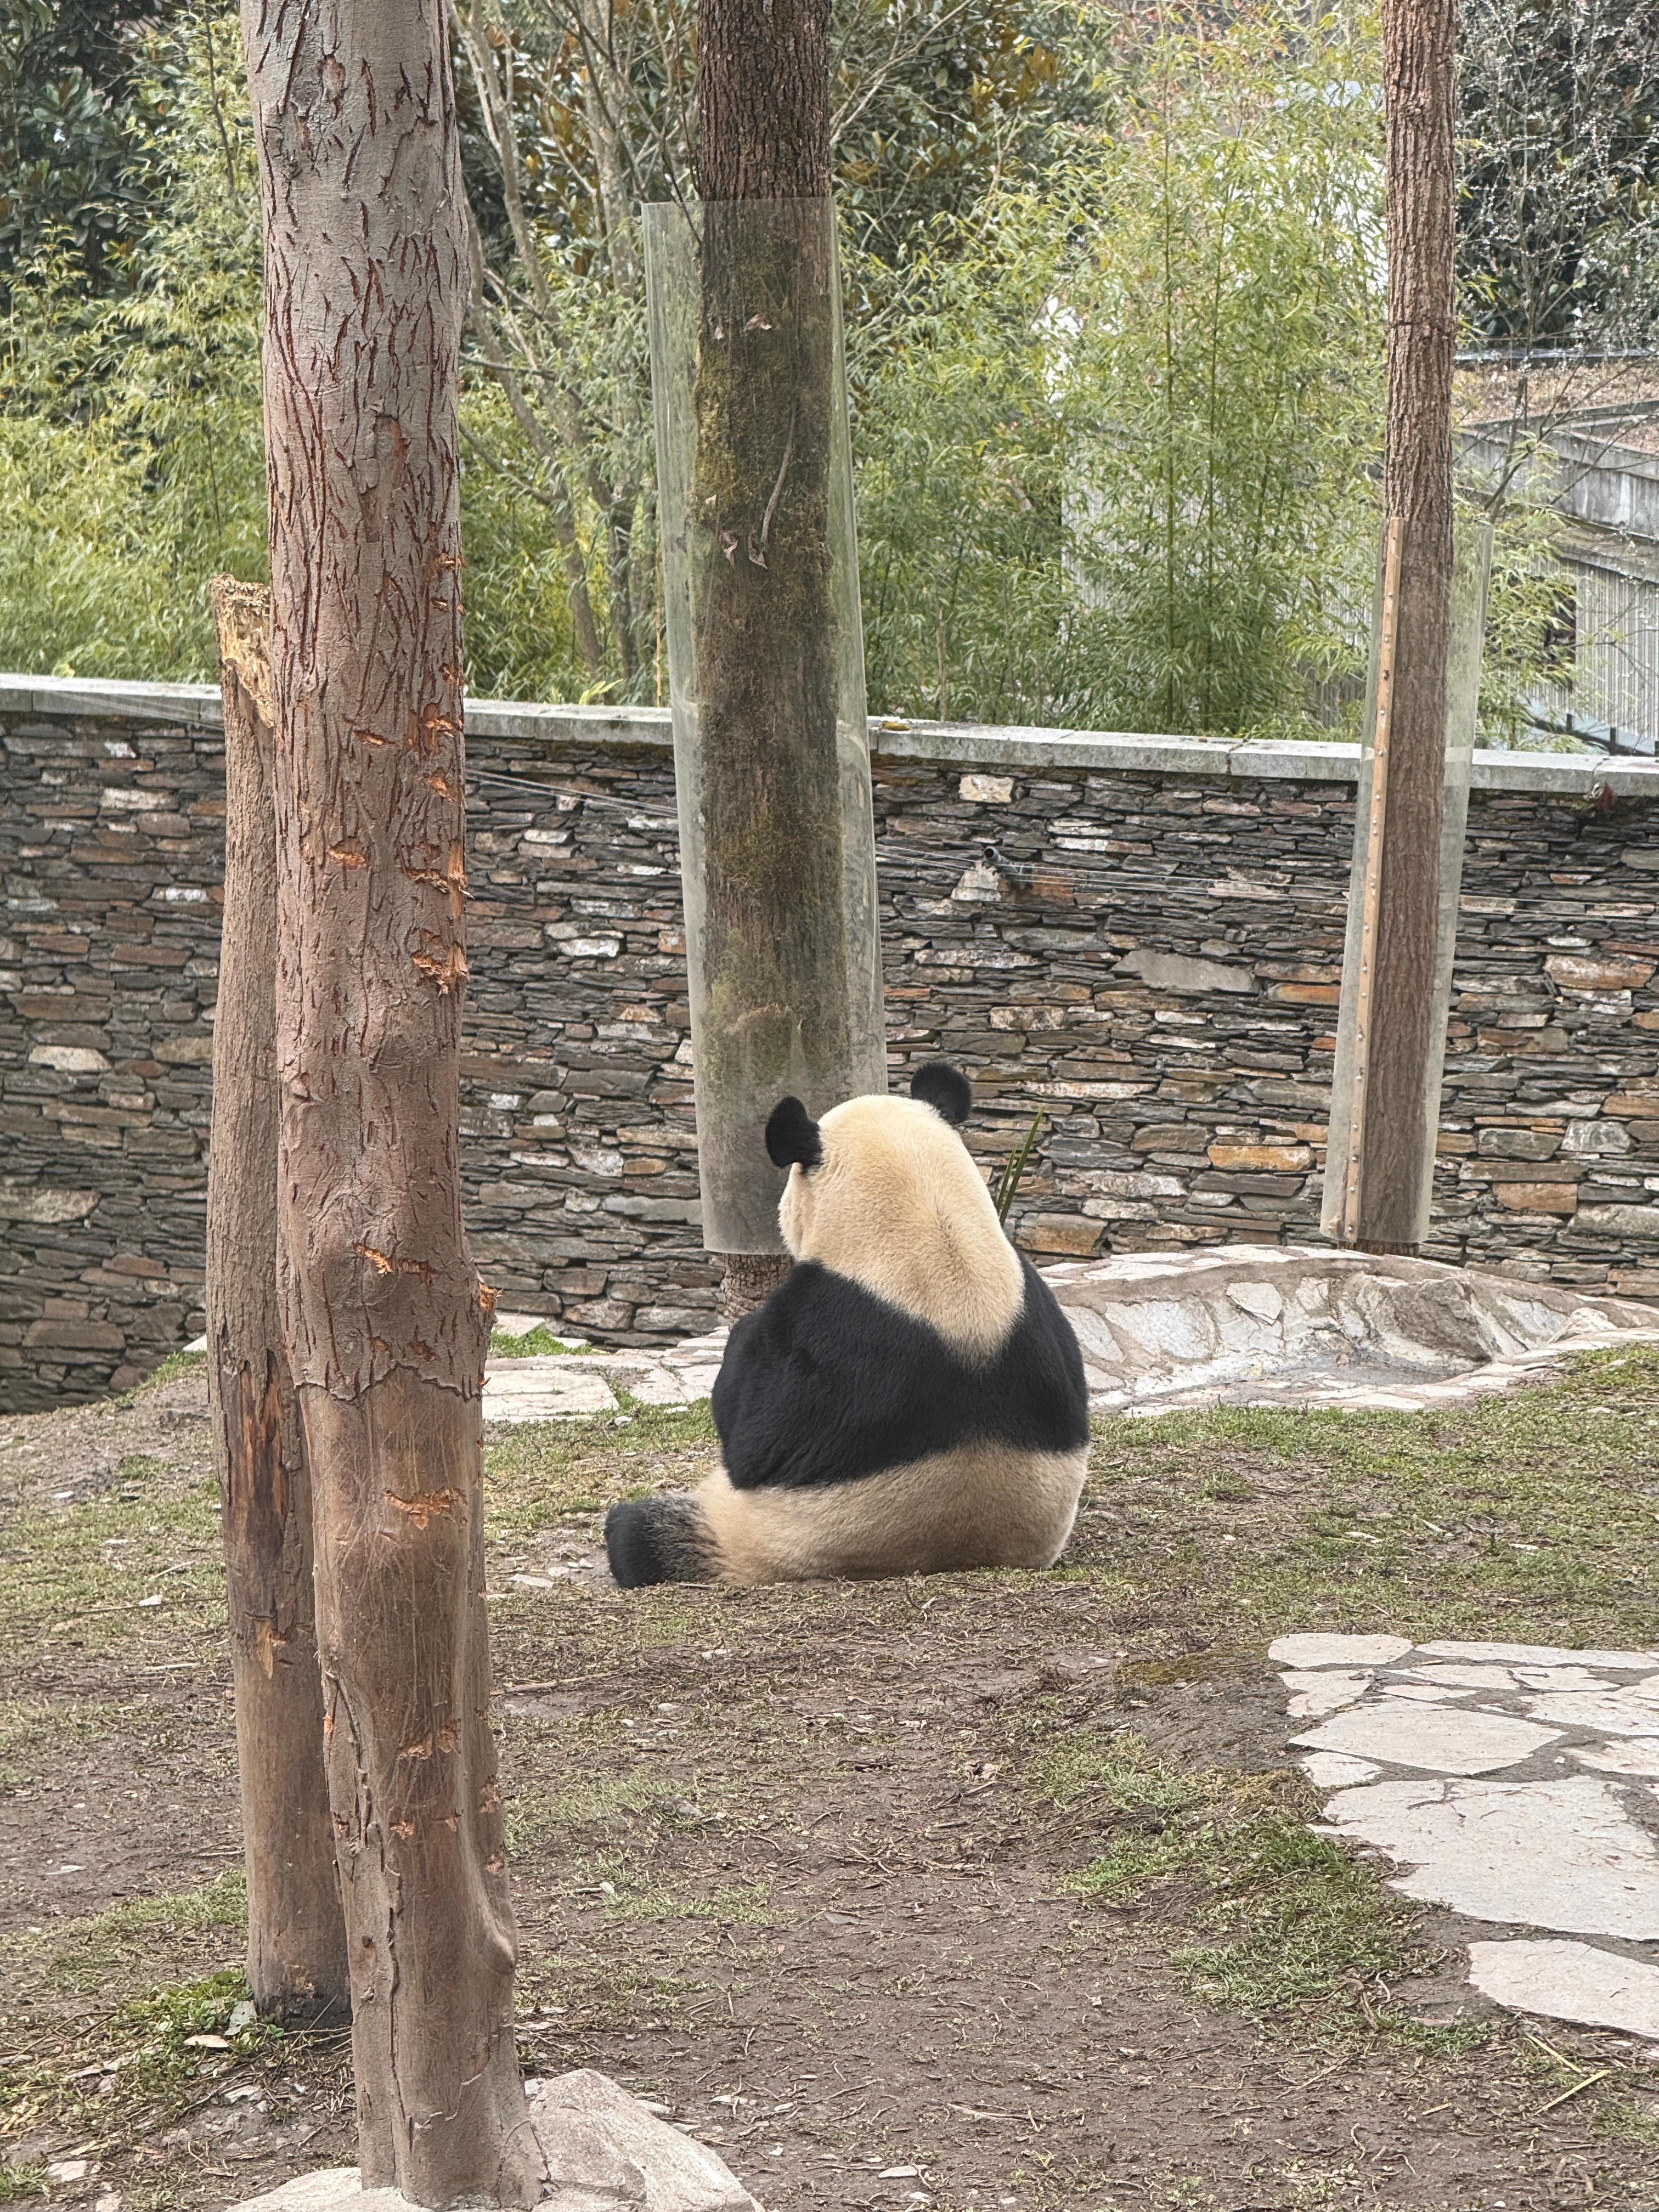
POLYGON ((1292 1745, 1325 1832, 1513 1931, 1469 1947, 1482 1995, 1659 2044, 1659 1650, 1307 1632, 1267 1655, 1292 1723, 1316 1719, 1292 1745))

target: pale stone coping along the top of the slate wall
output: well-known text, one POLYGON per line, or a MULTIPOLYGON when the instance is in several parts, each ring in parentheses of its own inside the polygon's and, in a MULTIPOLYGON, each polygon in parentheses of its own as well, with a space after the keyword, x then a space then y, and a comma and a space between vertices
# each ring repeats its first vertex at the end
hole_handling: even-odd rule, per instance
MULTIPOLYGON (((215 684, 128 684, 111 677, 0 675, 0 712, 84 717, 88 721, 168 721, 221 728, 215 684)), ((522 743, 604 743, 668 748, 668 708, 542 706, 531 699, 469 699, 473 737, 522 743)), ((876 759, 960 761, 964 768, 1086 770, 1095 774, 1214 776, 1219 783, 1354 783, 1360 748, 1338 743, 1239 743, 1225 737, 1159 737, 1137 730, 1037 730, 993 723, 869 723, 876 759)), ((1475 752, 1471 781, 1484 792, 1540 792, 1590 799, 1659 796, 1659 761, 1568 752, 1475 752)))

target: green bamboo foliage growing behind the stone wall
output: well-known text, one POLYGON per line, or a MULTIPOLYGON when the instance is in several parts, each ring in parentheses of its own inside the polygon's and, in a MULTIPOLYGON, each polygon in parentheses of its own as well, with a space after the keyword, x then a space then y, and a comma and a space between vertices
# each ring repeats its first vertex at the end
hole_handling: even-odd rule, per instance
MULTIPOLYGON (((661 699, 630 210, 686 188, 688 62, 657 11, 613 11, 597 51, 571 7, 456 9, 484 270, 469 686, 661 699)), ((1108 38, 1006 0, 838 9, 872 708, 1352 717, 1383 425, 1374 20, 1270 0, 1108 38)), ((86 221, 49 195, 11 210, 0 666, 201 679, 208 577, 265 562, 254 150, 232 11, 179 4, 133 35, 100 155, 115 261, 88 281, 86 221)), ((1489 737, 1524 723, 1548 571, 1537 522, 1509 522, 1489 737)))

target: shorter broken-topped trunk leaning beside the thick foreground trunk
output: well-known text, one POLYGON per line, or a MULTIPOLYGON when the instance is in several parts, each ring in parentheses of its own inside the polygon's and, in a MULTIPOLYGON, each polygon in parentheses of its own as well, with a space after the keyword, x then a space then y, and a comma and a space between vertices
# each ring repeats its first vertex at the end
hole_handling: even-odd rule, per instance
POLYGON ((276 818, 270 606, 215 577, 226 889, 212 1022, 208 1416, 219 1475, 248 1860, 248 1984, 276 2020, 349 2008, 323 1774, 312 1478, 276 1303, 276 818))

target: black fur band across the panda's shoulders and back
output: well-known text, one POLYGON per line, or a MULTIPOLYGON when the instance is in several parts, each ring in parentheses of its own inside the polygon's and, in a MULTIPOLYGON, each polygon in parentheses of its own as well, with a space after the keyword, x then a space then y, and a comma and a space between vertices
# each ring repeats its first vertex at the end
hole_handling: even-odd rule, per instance
POLYGON ((1079 1451, 1088 1387, 1060 1303, 1022 1259, 1020 1314, 982 1365, 922 1321, 796 1263, 737 1323, 714 1380, 714 1427, 734 1489, 812 1489, 905 1467, 956 1444, 1079 1451))

